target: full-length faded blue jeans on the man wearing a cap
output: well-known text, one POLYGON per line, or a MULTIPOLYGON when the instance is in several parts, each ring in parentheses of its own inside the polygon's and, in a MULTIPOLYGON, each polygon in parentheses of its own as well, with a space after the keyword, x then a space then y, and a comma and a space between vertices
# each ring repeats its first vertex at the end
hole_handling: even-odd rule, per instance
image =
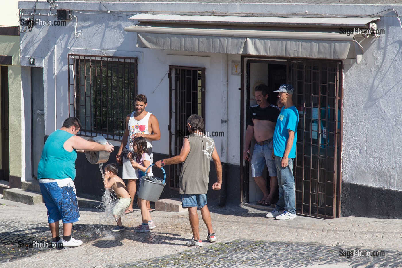
POLYGON ((282 157, 275 156, 279 186, 279 200, 276 208, 278 211, 286 210, 291 214, 296 214, 295 177, 293 177, 294 158, 288 159, 288 166, 282 167, 282 157))

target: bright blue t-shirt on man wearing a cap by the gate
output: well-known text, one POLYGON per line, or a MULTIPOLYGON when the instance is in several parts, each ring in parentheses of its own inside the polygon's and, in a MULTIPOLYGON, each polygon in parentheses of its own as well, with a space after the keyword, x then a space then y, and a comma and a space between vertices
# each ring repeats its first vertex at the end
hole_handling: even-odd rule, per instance
POLYGON ((296 140, 297 140, 297 124, 299 124, 299 112, 295 106, 285 109, 282 107, 279 113, 277 124, 274 132, 274 154, 283 157, 285 153, 287 139, 289 138, 289 130, 295 132, 293 145, 289 153, 289 158, 296 157, 296 140))

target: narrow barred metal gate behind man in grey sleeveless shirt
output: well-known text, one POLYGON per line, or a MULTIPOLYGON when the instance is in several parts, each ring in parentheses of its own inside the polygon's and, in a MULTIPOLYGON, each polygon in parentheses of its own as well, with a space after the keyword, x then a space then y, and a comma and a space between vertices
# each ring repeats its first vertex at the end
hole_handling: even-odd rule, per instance
MULTIPOLYGON (((169 157, 180 155, 187 136, 187 118, 205 120, 205 68, 169 66, 169 157)), ((169 166, 169 188, 178 189, 181 164, 169 166)))

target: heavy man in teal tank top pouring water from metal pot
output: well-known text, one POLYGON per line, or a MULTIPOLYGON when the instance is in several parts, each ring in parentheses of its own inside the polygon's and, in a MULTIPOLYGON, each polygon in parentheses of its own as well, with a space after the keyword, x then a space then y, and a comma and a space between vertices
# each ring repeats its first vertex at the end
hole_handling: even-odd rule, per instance
POLYGON ((80 219, 73 180, 76 177, 77 152, 113 151, 113 145, 90 142, 79 136, 80 120, 67 118, 62 128, 47 138, 38 166, 38 180, 47 208, 47 222, 52 235, 52 247, 78 247, 81 240, 71 237, 73 223, 80 219), (59 221, 63 222, 63 239, 59 236, 59 221))

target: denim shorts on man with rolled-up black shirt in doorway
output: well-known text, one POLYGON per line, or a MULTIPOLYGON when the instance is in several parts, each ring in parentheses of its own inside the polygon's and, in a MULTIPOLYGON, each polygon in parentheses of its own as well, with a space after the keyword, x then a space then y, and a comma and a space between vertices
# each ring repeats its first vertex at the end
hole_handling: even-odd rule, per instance
POLYGON ((273 142, 265 145, 254 145, 251 157, 251 177, 263 175, 265 165, 267 165, 269 176, 277 175, 275 160, 272 159, 273 142))

